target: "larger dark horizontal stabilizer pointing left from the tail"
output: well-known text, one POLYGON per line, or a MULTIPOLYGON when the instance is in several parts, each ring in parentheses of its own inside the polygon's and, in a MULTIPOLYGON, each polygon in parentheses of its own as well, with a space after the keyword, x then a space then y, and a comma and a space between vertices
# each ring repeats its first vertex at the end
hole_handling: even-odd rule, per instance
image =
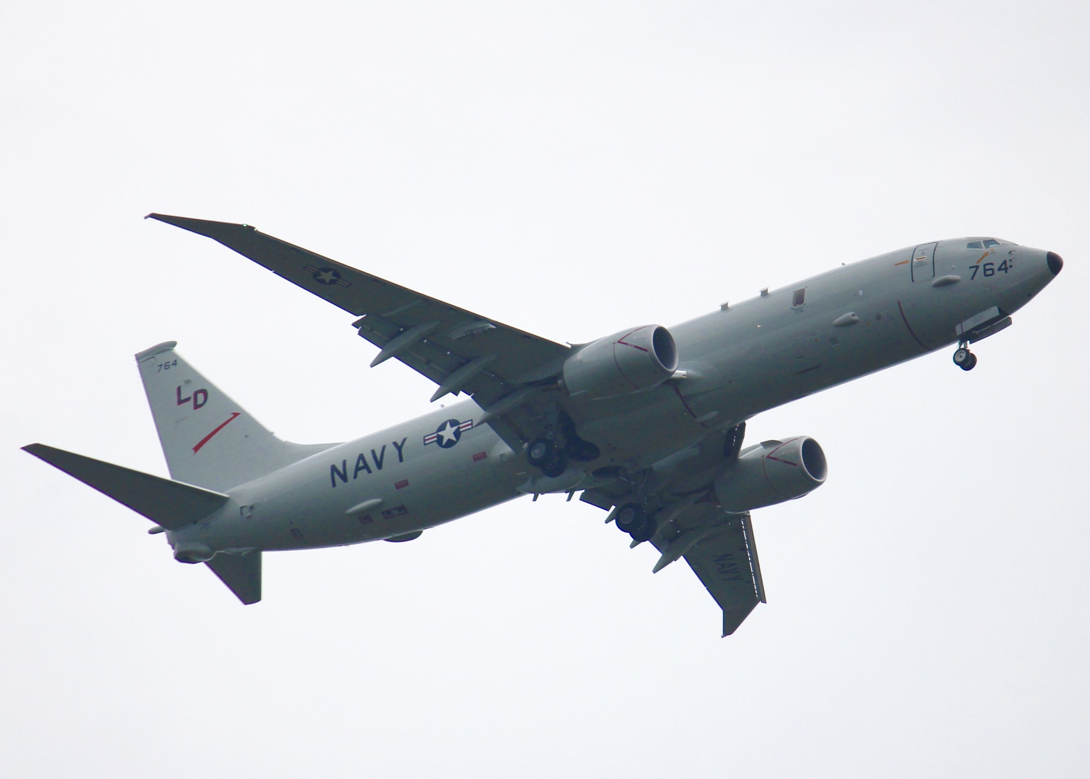
POLYGON ((168 530, 204 519, 229 500, 221 492, 122 468, 45 444, 28 444, 23 450, 168 530))

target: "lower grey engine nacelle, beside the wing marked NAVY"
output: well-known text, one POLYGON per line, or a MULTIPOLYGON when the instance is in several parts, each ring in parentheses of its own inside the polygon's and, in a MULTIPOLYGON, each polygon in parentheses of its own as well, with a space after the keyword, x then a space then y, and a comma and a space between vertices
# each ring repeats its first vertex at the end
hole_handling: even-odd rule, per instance
POLYGON ((715 495, 728 512, 748 512, 802 498, 825 483, 827 470, 825 453, 811 438, 765 441, 715 480, 715 495))

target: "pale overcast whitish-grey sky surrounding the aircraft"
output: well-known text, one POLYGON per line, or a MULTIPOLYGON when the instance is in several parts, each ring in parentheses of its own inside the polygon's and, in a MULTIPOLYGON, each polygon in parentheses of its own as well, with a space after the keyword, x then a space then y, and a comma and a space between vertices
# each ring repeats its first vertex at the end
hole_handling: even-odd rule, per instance
POLYGON ((0 762, 11 777, 1082 776, 1086 3, 0 4, 0 762), (242 607, 20 452, 166 475, 132 355, 293 441, 427 408, 352 317, 158 211, 245 221, 555 340, 904 245, 1058 279, 750 423, 831 476, 763 510, 730 638, 584 504, 270 554, 242 607))

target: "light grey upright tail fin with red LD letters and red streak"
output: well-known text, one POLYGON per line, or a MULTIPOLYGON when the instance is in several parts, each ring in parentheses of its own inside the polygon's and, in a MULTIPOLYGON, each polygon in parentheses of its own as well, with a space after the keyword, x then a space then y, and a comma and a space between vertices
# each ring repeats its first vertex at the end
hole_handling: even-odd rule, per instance
POLYGON ((334 444, 282 441, 174 351, 170 340, 136 355, 170 476, 226 490, 334 444))

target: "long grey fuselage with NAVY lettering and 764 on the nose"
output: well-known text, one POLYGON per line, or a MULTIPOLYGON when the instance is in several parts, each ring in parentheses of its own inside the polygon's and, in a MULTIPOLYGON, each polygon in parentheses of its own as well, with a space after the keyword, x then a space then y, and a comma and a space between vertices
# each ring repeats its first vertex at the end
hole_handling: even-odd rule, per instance
MULTIPOLYGON (((591 474, 603 466, 646 468, 710 430, 950 345, 960 323, 992 307, 1014 313, 1055 275, 1044 251, 968 248, 979 240, 843 265, 670 327, 677 379, 619 398, 566 398, 580 435, 602 456, 564 489, 593 487, 591 474)), ((473 424, 482 415, 461 400, 339 444, 228 490, 227 505, 168 538, 215 550, 351 544, 543 491, 521 452, 473 424)))

